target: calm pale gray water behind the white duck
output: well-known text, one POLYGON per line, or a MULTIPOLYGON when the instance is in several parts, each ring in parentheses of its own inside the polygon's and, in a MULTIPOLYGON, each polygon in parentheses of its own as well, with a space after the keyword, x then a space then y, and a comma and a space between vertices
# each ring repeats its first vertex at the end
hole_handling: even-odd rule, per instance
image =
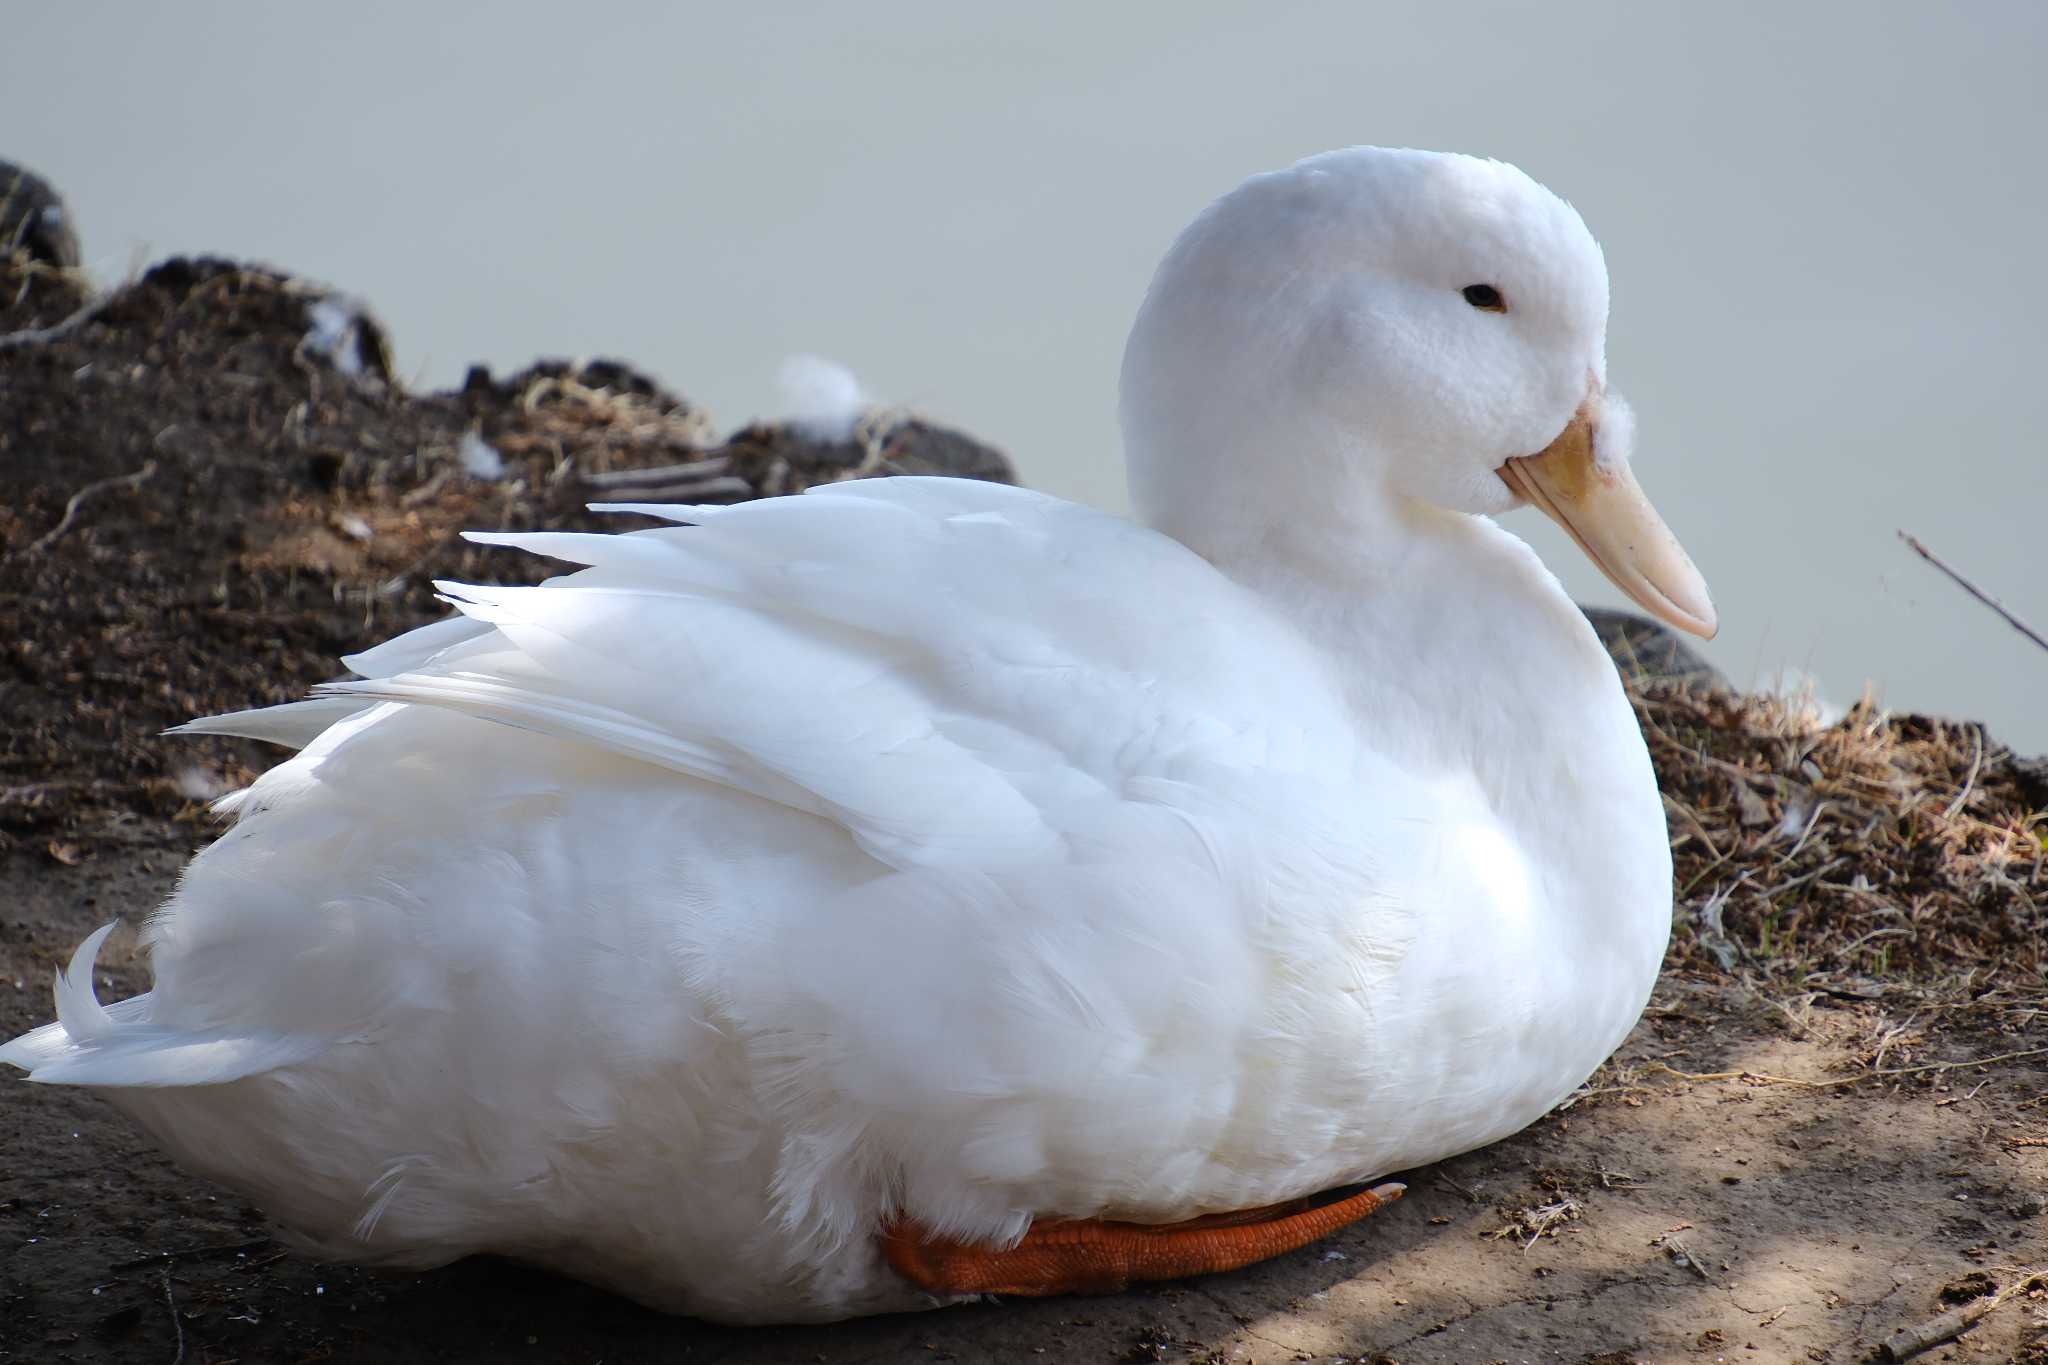
MULTIPOLYGON (((1122 334, 1239 178, 1518 162, 1614 276, 1636 469, 1737 681, 1866 681, 2048 749, 2048 6, 10 6, 0 156, 100 280, 338 282, 401 368, 612 354, 737 424, 791 352, 1122 508, 1122 334)), ((1585 600, 1618 602, 1534 514, 1585 600)))

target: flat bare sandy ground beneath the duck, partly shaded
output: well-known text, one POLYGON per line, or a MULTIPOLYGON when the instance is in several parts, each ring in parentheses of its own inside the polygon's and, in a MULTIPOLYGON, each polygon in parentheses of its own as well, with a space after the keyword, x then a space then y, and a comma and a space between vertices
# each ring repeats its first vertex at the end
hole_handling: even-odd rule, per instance
MULTIPOLYGON (((137 821, 76 868, 12 857, 0 1031, 45 1019, 72 943, 143 913, 190 843, 137 821)), ((127 941, 102 956, 109 999, 145 986, 127 941)), ((1407 1199, 1327 1244, 1116 1297, 801 1330, 662 1318, 496 1261, 311 1265, 92 1095, 6 1083, 0 1361, 1862 1361, 2048 1263, 2048 1056, 1823 1087, 1669 1072, 1827 1081, 2030 1044, 1673 974, 1583 1099, 1409 1173, 1407 1199)), ((1921 1359, 2048 1363, 2048 1300, 1921 1359)))

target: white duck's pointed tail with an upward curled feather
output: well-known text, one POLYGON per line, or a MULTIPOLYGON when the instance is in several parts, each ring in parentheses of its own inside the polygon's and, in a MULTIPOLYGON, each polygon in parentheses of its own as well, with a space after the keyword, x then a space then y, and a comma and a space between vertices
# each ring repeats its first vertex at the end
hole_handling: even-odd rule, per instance
POLYGON ((152 1019, 150 993, 100 1005, 92 964, 113 933, 102 925, 57 972, 57 1021, 0 1046, 0 1062, 45 1085, 174 1087, 221 1085, 303 1062, 330 1046, 307 1033, 227 1033, 166 1027, 152 1019))

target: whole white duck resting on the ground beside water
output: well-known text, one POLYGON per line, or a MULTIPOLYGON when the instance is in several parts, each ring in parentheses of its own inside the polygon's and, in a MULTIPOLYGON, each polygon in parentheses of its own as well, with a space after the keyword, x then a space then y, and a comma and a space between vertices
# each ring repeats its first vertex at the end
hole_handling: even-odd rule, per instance
POLYGON ((477 536, 588 567, 188 726, 303 751, 223 802, 156 988, 94 1001, 102 929, 0 1058, 315 1254, 711 1318, 1300 1244, 1399 1187, 1270 1205, 1516 1132, 1657 976, 1634 716, 1487 518, 1536 501, 1712 632, 1606 311, 1511 166, 1331 151, 1159 266, 1143 526, 887 479, 477 536))

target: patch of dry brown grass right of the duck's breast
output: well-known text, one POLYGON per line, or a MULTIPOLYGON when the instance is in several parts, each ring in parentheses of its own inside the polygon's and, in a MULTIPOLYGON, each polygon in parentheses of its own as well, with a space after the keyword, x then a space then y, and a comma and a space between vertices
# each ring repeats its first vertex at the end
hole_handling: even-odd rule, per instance
POLYGON ((1868 698, 1825 724, 1798 700, 1659 681, 1634 702, 1671 812, 1669 966, 1780 999, 2042 1011, 2048 792, 1982 726, 1868 698))

